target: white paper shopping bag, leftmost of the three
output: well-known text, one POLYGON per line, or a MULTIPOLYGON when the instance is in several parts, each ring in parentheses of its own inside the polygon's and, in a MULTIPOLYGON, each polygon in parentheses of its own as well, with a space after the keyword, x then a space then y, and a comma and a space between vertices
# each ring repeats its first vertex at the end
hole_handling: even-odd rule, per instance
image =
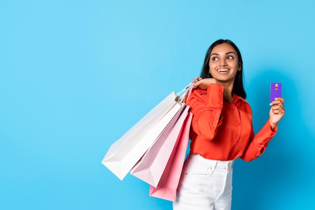
POLYGON ((173 91, 133 125, 111 145, 102 164, 122 180, 180 110, 183 97, 179 95, 190 85, 178 94, 173 91))

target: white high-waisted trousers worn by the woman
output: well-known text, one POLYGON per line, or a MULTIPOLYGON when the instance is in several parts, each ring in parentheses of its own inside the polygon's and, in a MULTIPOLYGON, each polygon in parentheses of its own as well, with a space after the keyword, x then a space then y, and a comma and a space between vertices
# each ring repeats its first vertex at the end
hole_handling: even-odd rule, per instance
POLYGON ((233 161, 216 161, 189 154, 173 210, 230 210, 233 161))

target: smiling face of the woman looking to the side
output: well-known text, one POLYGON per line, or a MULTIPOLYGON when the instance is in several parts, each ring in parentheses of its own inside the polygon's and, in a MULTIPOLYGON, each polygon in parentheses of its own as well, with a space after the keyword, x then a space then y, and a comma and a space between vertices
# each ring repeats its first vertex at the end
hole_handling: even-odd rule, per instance
POLYGON ((230 44, 218 44, 212 49, 209 72, 215 80, 221 83, 233 84, 237 72, 241 69, 239 56, 230 44))

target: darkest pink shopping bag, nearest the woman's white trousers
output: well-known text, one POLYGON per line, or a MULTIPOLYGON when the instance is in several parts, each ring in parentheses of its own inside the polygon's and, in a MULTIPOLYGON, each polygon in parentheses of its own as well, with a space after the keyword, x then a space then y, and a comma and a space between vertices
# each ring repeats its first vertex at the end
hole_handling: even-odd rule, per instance
POLYGON ((189 112, 184 127, 181 131, 178 147, 173 151, 157 187, 150 185, 150 196, 170 200, 173 202, 176 200, 176 191, 181 177, 189 142, 191 119, 192 113, 189 112))

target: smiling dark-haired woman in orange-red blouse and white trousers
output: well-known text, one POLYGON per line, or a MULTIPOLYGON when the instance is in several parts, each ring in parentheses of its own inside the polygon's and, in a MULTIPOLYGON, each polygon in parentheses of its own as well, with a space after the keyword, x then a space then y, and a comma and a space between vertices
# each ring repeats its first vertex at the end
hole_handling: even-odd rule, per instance
POLYGON ((251 161, 264 153, 284 116, 284 99, 270 104, 270 117, 255 135, 245 100, 242 56, 230 40, 209 47, 201 78, 195 80, 187 101, 193 113, 190 154, 173 209, 230 209, 233 161, 251 161))

